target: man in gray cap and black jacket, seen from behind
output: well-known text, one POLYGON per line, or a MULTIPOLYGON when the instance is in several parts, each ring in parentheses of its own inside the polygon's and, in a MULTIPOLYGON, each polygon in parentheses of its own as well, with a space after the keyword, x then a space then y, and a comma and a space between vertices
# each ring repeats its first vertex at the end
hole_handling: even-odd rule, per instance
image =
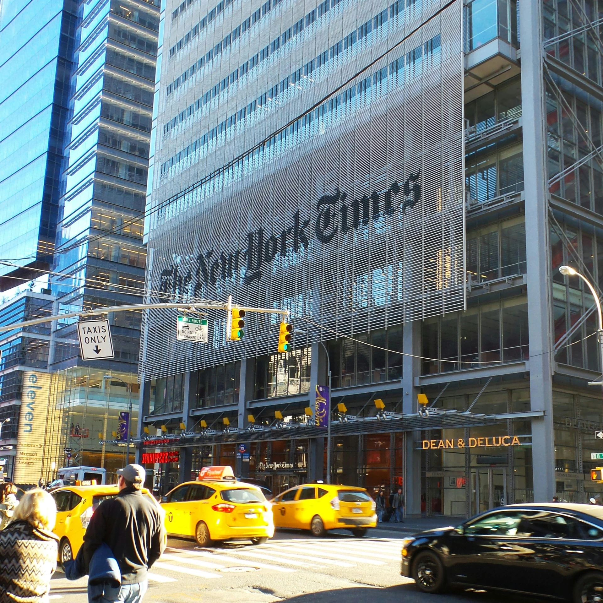
POLYGON ((104 590, 102 603, 139 603, 147 592, 147 570, 165 550, 166 533, 159 504, 142 494, 145 470, 140 465, 118 469, 119 494, 98 505, 84 535, 84 569, 106 543, 121 570, 121 587, 104 590))

